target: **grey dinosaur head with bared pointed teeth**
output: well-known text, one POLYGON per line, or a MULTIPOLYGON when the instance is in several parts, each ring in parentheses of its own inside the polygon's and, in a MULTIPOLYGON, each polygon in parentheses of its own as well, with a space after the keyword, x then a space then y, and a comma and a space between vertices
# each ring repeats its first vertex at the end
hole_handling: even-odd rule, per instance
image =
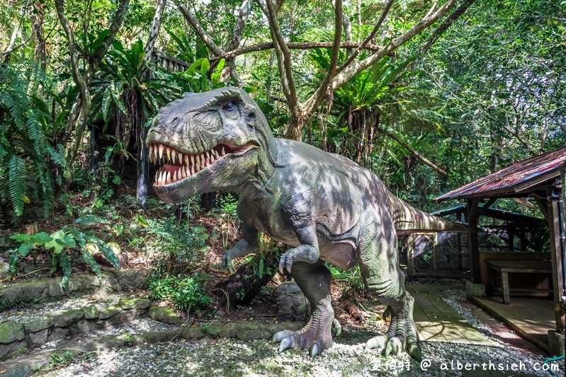
POLYGON ((159 110, 147 135, 157 163, 154 190, 169 203, 204 192, 242 191, 273 167, 273 134, 258 105, 238 88, 185 93, 159 110))

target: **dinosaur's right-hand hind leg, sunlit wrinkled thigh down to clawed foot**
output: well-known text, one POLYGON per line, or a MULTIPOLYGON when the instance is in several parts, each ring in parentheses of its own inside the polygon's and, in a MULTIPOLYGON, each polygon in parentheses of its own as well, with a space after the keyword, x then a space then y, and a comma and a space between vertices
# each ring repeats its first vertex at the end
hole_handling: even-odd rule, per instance
POLYGON ((387 305, 383 318, 391 317, 387 332, 368 340, 366 349, 383 348, 385 356, 407 349, 414 359, 420 360, 419 335, 413 320, 414 298, 404 288, 404 274, 398 263, 395 234, 373 237, 362 249, 363 282, 373 297, 387 305))

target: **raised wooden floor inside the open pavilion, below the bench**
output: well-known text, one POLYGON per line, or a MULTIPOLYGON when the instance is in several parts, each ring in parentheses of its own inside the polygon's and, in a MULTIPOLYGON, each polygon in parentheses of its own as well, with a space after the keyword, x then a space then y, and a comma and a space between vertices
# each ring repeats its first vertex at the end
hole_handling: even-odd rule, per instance
POLYGON ((502 320, 522 337, 548 352, 548 330, 555 329, 554 303, 543 298, 512 297, 509 305, 501 298, 472 297, 472 301, 502 320))

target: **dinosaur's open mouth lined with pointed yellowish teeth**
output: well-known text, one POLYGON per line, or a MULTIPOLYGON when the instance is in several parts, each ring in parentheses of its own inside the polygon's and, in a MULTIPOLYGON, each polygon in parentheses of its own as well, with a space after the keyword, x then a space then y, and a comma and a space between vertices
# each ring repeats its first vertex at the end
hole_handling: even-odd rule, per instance
POLYGON ((242 154, 254 143, 232 147, 218 144, 203 153, 188 154, 164 144, 149 145, 149 162, 162 165, 155 173, 156 186, 170 185, 197 174, 227 154, 242 154))

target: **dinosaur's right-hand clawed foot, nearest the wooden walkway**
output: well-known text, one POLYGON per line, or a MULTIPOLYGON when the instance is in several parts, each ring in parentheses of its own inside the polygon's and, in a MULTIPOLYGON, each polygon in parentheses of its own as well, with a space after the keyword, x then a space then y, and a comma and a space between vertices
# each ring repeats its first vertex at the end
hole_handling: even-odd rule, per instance
POLYGON ((419 335, 417 327, 412 320, 412 303, 406 305, 400 313, 392 313, 389 306, 383 313, 383 318, 391 315, 391 323, 387 332, 383 335, 373 337, 366 343, 366 349, 384 349, 383 355, 398 354, 407 347, 407 353, 417 361, 421 361, 422 352, 419 347, 419 335), (408 311, 410 307, 410 311, 408 311))

